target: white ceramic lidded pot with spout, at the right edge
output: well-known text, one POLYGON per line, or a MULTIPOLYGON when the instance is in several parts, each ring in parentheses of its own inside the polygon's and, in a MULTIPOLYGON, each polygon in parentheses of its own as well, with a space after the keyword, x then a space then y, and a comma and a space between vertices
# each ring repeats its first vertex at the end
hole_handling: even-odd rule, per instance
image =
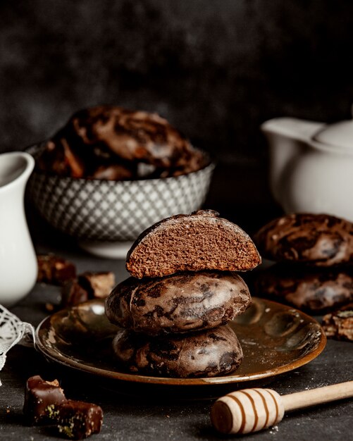
POLYGON ((261 130, 270 147, 271 191, 286 213, 353 221, 353 120, 274 118, 261 130))

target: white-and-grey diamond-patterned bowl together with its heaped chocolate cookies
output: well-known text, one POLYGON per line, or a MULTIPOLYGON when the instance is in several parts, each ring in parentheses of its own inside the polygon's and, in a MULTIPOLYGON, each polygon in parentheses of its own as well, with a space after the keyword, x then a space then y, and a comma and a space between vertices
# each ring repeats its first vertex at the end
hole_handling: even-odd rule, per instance
POLYGON ((32 203, 93 254, 125 256, 140 232, 202 206, 214 164, 156 113, 96 106, 27 151, 32 203))

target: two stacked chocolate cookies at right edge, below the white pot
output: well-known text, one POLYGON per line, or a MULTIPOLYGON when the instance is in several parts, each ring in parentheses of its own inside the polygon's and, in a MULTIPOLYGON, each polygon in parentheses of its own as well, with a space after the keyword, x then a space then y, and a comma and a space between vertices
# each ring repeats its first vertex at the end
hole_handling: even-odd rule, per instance
POLYGON ((353 301, 353 224, 328 214, 277 218, 254 236, 261 256, 254 293, 321 314, 353 301))

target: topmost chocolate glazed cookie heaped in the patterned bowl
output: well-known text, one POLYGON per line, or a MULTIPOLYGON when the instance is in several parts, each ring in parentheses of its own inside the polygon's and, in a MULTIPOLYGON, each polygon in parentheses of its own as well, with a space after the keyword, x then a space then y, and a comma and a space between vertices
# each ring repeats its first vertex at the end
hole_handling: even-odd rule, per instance
POLYGON ((84 144, 104 145, 128 161, 139 160, 163 168, 182 166, 191 170, 200 168, 202 163, 202 154, 156 113, 97 106, 75 113, 68 126, 84 144))

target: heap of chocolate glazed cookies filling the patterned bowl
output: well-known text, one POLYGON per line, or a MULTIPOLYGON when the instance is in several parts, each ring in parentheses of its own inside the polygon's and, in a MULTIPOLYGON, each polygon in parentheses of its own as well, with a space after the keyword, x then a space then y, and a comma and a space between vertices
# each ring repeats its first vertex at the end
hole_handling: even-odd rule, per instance
POLYGON ((137 163, 164 178, 199 170, 209 159, 156 113, 102 105, 76 112, 47 142, 38 166, 75 178, 126 180, 137 178, 137 163))

